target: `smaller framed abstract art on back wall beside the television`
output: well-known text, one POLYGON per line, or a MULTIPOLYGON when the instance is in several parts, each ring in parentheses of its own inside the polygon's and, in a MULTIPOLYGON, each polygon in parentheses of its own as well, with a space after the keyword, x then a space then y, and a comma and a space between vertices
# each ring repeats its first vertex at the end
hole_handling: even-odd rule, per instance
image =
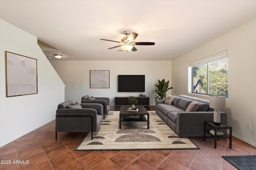
POLYGON ((90 88, 109 88, 109 70, 90 70, 90 88))

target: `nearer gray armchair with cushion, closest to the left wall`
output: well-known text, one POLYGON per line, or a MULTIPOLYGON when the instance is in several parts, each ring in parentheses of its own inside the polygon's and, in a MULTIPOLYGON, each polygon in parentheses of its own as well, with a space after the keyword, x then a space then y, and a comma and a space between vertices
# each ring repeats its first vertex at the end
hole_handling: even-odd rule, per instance
POLYGON ((102 121, 102 104, 63 102, 56 110, 56 140, 57 132, 96 132, 102 121))

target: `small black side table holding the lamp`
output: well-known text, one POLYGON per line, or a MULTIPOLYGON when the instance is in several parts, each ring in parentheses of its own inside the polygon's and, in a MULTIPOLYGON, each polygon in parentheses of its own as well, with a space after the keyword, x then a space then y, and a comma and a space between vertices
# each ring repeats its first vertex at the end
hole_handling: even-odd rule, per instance
POLYGON ((229 147, 232 148, 232 127, 231 126, 226 125, 224 123, 220 123, 220 125, 215 125, 213 123, 213 121, 205 121, 204 122, 204 141, 206 140, 206 133, 214 136, 214 148, 217 147, 216 141, 217 141, 217 139, 219 140, 219 138, 229 138, 229 147), (210 131, 206 130, 206 125, 214 128, 214 132, 215 132, 214 135, 212 135, 212 133, 210 133, 210 131), (224 135, 217 135, 217 130, 219 130, 219 129, 230 129, 229 136, 227 136, 225 134, 224 135))

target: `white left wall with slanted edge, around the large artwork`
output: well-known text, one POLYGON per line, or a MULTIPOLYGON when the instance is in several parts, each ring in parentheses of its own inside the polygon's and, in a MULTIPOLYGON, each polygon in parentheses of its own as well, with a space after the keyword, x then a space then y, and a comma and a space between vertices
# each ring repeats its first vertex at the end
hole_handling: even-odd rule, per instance
POLYGON ((54 120, 64 87, 37 38, 0 19, 0 147, 54 120), (38 94, 6 97, 5 51, 37 59, 38 94))

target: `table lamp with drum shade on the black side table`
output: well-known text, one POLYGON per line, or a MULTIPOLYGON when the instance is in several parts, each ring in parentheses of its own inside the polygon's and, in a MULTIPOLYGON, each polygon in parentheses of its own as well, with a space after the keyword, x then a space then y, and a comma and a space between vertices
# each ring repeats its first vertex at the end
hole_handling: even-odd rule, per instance
POLYGON ((210 96, 210 108, 214 109, 213 123, 220 125, 220 109, 225 109, 225 96, 210 96))

